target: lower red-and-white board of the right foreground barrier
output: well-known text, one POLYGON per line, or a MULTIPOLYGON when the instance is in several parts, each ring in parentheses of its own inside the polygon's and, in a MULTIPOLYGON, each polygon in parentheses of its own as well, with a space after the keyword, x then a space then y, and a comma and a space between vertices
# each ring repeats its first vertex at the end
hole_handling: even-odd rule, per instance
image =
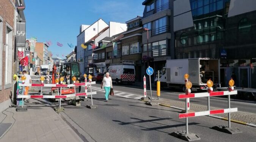
POLYGON ((236 111, 237 111, 237 108, 226 108, 226 109, 221 109, 221 110, 200 111, 200 112, 193 112, 193 113, 181 113, 181 114, 179 114, 179 118, 206 116, 206 115, 210 115, 210 114, 232 113, 232 112, 236 112, 236 111))

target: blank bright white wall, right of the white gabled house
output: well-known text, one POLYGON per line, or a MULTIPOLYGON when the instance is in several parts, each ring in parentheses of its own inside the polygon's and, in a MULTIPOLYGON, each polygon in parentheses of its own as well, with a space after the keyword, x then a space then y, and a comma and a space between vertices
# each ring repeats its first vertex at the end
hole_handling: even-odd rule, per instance
POLYGON ((119 34, 121 32, 127 31, 126 23, 117 23, 117 22, 109 22, 109 36, 119 34))

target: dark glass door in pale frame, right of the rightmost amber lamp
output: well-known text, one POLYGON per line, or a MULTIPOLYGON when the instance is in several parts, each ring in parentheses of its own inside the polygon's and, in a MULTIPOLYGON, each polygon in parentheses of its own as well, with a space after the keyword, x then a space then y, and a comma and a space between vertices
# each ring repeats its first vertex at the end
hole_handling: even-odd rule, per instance
POLYGON ((250 88, 250 68, 240 68, 240 86, 242 88, 250 88))

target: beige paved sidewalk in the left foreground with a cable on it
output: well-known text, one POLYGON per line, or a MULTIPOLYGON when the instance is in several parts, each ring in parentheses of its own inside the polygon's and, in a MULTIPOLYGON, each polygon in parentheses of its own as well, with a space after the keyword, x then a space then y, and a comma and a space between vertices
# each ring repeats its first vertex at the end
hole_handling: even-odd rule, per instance
POLYGON ((44 100, 30 99, 25 106, 26 112, 8 108, 0 114, 0 142, 83 141, 44 100))

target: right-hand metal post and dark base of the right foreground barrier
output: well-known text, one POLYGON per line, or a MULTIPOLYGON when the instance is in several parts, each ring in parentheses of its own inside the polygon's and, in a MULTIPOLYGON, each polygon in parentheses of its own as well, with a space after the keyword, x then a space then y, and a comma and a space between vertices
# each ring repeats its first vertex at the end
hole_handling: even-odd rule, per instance
MULTIPOLYGON (((230 95, 228 95, 228 108, 230 108, 230 95)), ((231 122, 230 122, 230 112, 228 113, 228 127, 225 125, 218 125, 218 126, 214 126, 212 127, 212 129, 217 130, 217 131, 221 131, 224 133, 228 133, 228 134, 238 134, 238 133, 242 133, 241 130, 239 130, 238 128, 231 128, 231 122)))

